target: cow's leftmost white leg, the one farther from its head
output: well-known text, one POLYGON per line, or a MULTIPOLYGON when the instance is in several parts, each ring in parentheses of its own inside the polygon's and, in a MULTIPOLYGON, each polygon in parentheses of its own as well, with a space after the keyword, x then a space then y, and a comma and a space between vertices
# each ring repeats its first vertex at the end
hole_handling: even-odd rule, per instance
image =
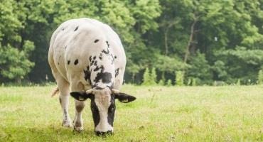
POLYGON ((63 77, 56 77, 56 80, 58 84, 58 89, 60 91, 59 101, 63 111, 62 126, 71 127, 72 126, 71 119, 68 113, 68 105, 69 105, 69 97, 70 97, 69 84, 63 77))

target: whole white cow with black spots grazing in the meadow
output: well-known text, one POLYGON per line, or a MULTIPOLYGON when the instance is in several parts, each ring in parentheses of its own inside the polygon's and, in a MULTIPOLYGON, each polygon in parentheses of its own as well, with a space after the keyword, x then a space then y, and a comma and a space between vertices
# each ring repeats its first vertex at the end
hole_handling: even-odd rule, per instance
POLYGON ((119 92, 126 57, 117 33, 91 18, 65 21, 51 37, 48 62, 60 92, 63 126, 72 126, 68 114, 71 94, 75 98, 76 131, 83 129, 83 101, 90 99, 95 133, 112 133, 115 99, 124 103, 136 99, 119 92))

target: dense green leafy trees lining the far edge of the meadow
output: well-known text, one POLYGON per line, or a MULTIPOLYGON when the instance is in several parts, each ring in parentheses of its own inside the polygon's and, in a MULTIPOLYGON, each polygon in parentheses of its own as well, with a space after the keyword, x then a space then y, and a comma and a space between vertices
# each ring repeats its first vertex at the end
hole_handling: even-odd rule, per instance
MULTIPOLYGON (((0 82, 46 82, 50 36, 70 18, 114 28, 125 81, 257 84, 263 70, 263 0, 1 0, 0 82), (182 81, 183 80, 183 81, 182 81)), ((262 75, 261 75, 262 76, 262 75)))

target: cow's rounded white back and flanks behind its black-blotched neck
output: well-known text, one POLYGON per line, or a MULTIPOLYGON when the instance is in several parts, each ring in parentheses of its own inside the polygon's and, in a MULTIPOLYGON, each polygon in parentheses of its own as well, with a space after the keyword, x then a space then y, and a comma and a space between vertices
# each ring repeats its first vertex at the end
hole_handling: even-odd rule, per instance
POLYGON ((70 83, 82 82, 88 85, 83 71, 90 65, 89 58, 92 55, 100 55, 107 46, 114 55, 114 67, 120 68, 124 73, 124 49, 119 36, 112 28, 90 18, 65 21, 52 35, 48 61, 53 74, 63 76, 70 83))

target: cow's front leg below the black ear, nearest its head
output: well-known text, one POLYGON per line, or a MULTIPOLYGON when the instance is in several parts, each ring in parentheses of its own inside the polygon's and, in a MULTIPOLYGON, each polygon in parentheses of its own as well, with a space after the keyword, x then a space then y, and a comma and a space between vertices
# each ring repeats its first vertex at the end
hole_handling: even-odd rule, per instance
POLYGON ((74 120, 75 131, 83 130, 82 110, 84 107, 85 107, 84 102, 75 100, 75 120, 74 120))

